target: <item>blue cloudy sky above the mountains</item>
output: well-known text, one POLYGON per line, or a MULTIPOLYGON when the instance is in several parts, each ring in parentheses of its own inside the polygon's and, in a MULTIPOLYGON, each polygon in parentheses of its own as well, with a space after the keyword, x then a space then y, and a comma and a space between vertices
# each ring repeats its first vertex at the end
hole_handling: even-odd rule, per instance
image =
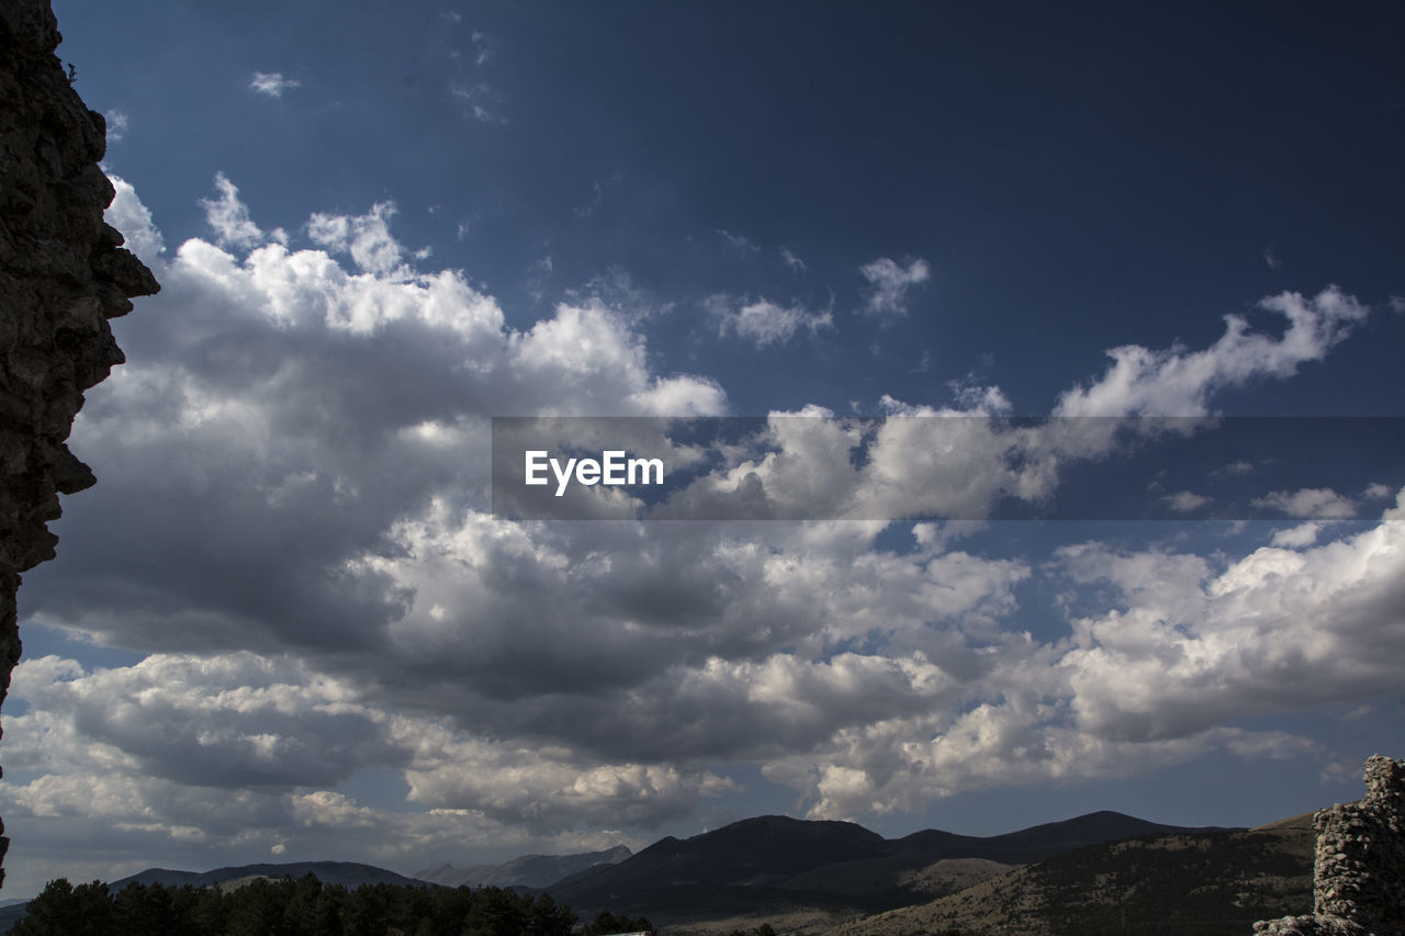
POLYGON ((1357 798, 1405 11, 1221 7, 56 0, 163 290, 20 592, 6 892, 1357 798), (495 512, 545 416, 676 510, 495 512))

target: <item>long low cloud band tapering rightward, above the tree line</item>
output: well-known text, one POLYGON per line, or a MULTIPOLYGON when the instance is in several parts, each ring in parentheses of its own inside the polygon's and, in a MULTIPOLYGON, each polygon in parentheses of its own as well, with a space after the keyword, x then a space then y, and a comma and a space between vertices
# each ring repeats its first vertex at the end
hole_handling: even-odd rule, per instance
MULTIPOLYGON (((17 734, 7 763, 41 776, 11 795, 37 817, 74 811, 84 788, 143 777, 181 800, 200 788, 253 791, 260 808, 275 814, 337 807, 365 815, 375 811, 353 808, 326 788, 377 767, 403 772, 412 802, 472 807, 485 824, 551 835, 582 819, 653 826, 700 795, 731 788, 708 773, 601 765, 563 748, 532 750, 472 736, 443 718, 367 704, 351 680, 287 658, 156 654, 135 666, 87 672, 74 661, 45 656, 22 663, 15 677, 30 711, 11 720, 17 734)), ((98 798, 79 811, 112 818, 132 808, 98 798)), ((232 831, 192 818, 181 817, 176 826, 200 829, 191 836, 232 831)))

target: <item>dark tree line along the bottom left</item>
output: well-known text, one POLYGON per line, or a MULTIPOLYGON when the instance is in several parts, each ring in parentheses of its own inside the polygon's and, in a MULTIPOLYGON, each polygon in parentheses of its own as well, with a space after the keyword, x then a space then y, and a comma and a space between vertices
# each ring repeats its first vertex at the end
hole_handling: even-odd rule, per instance
POLYGON ((652 932, 648 919, 603 911, 583 929, 548 894, 499 887, 362 884, 347 890, 313 874, 218 887, 49 881, 11 936, 604 936, 652 932))

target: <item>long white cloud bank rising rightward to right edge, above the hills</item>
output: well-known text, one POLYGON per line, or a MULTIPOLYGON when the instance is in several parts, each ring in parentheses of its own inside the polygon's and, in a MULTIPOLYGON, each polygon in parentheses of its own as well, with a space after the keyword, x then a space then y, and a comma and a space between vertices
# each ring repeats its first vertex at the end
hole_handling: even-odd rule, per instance
POLYGON ((1405 492, 1381 523, 1305 550, 1201 557, 1059 550, 1071 579, 1118 607, 1073 617, 1072 641, 992 648, 976 701, 846 728, 769 777, 813 818, 917 808, 961 790, 1132 776, 1208 750, 1301 756, 1315 742, 1243 715, 1395 691, 1405 665, 1405 492), (1000 687, 1000 696, 985 696, 1000 687))

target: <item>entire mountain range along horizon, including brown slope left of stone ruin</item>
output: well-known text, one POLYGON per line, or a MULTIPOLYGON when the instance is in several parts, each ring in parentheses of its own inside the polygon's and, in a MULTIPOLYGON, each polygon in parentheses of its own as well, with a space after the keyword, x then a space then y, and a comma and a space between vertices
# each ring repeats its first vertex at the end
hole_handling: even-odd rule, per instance
MULTIPOLYGON (((1311 905, 1311 815, 1256 829, 1183 828, 1092 812, 996 836, 936 829, 885 839, 853 822, 766 815, 665 838, 504 864, 441 866, 413 878, 368 864, 298 862, 192 873, 149 869, 114 881, 239 887, 315 874, 326 884, 495 885, 549 892, 584 918, 643 915, 670 936, 778 932, 1218 933, 1311 905), (563 877, 551 880, 558 873, 563 877)), ((0 932, 22 916, 0 909, 0 932)))

